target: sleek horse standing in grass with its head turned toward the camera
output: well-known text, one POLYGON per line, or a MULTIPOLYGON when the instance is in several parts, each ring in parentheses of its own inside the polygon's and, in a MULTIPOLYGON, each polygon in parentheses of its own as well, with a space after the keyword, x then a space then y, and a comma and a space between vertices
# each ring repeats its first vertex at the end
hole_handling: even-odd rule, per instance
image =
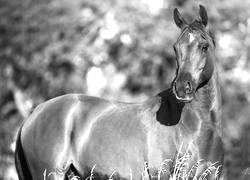
POLYGON ((220 90, 207 19, 203 6, 191 24, 174 10, 181 28, 174 45, 176 78, 171 88, 147 101, 68 94, 40 104, 19 130, 19 179, 85 179, 91 174, 89 179, 109 179, 112 174, 112 179, 137 180, 142 172, 153 179, 162 162, 176 159, 181 149, 191 157, 189 168, 203 159, 194 178, 208 162, 222 164, 220 90))

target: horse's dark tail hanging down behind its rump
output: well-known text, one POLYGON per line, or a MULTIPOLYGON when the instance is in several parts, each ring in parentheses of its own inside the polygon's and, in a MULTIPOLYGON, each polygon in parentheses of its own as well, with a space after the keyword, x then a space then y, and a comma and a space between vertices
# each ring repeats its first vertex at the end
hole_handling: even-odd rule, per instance
POLYGON ((15 150, 15 166, 18 174, 19 180, 32 180, 32 175, 29 170, 29 166, 23 151, 23 146, 21 142, 21 131, 22 126, 19 129, 16 140, 16 150, 15 150))

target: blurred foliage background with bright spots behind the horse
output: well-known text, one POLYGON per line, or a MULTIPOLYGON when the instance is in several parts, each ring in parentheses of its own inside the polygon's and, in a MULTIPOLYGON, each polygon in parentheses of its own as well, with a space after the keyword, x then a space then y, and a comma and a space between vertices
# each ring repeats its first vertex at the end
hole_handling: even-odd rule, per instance
POLYGON ((250 179, 248 0, 0 0, 0 179, 17 179, 15 135, 39 103, 66 93, 138 102, 168 87, 173 9, 191 22, 199 4, 217 44, 225 179, 250 179))

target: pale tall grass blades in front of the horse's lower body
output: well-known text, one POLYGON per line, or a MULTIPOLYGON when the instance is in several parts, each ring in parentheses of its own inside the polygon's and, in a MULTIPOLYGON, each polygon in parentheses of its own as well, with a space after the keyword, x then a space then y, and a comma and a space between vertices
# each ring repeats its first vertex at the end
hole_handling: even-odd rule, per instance
MULTIPOLYGON (((175 160, 166 159, 164 160, 160 168, 158 169, 157 175, 150 174, 151 165, 147 162, 144 163, 144 170, 142 174, 142 180, 206 180, 208 177, 212 180, 223 180, 223 177, 220 177, 222 165, 219 162, 215 163, 206 163, 202 159, 198 160, 191 168, 189 167, 190 162, 192 161, 192 157, 189 153, 189 148, 186 149, 184 154, 182 153, 182 145, 178 150, 177 157, 175 160), (199 177, 197 177, 197 169, 199 166, 204 165, 206 163, 207 168, 202 172, 199 177), (172 169, 172 170, 171 170, 172 169)), ((89 177, 84 180, 94 180, 94 170, 96 165, 94 165, 91 169, 89 177)), ((112 172, 107 180, 113 180, 113 176, 116 171, 112 172)), ((44 180, 48 180, 50 176, 54 176, 55 180, 63 179, 65 174, 65 170, 57 169, 55 172, 50 172, 47 174, 45 170, 43 173, 44 180)), ((78 176, 74 176, 72 174, 68 175, 70 180, 83 180, 78 176)), ((129 173, 129 179, 133 180, 132 170, 129 173)))

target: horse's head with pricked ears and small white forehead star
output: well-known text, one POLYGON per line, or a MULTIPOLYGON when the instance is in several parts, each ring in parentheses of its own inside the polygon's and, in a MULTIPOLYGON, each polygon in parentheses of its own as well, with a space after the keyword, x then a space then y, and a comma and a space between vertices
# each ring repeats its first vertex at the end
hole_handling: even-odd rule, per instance
POLYGON ((175 24, 181 34, 174 44, 177 60, 176 77, 172 88, 178 100, 190 102, 195 92, 204 86, 213 73, 214 43, 206 30, 206 9, 200 5, 200 17, 187 24, 177 9, 175 24))

